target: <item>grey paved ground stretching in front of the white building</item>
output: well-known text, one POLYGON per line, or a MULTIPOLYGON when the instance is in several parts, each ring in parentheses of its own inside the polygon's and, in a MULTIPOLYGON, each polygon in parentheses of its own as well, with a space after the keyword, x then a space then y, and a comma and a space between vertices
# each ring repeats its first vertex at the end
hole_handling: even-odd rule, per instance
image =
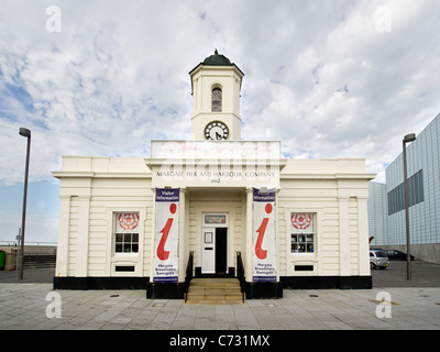
POLYGON ((440 329, 440 265, 428 270, 437 274, 433 287, 417 275, 411 287, 393 287, 406 264, 392 262, 392 267, 373 271, 373 282, 380 283, 373 289, 285 289, 283 299, 240 305, 146 299, 144 290, 53 290, 51 271, 35 272, 35 283, 31 271, 24 272, 28 283, 0 272, 0 330, 440 329))

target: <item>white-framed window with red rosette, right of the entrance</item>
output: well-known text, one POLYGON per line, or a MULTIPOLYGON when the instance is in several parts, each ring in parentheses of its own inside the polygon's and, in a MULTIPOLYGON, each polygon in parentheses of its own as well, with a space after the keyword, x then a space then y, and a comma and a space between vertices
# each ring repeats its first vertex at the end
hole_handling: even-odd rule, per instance
POLYGON ((290 213, 292 253, 315 253, 316 215, 311 212, 290 213))

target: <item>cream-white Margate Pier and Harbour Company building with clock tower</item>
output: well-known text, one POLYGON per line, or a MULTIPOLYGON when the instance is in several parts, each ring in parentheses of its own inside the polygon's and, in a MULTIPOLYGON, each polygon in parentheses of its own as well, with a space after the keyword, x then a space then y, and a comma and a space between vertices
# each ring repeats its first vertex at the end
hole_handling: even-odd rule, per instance
POLYGON ((183 298, 194 275, 244 276, 248 299, 371 288, 364 160, 286 160, 279 141, 241 141, 244 74, 216 51, 189 75, 194 140, 152 141, 150 157, 64 156, 53 173, 54 287, 183 298))

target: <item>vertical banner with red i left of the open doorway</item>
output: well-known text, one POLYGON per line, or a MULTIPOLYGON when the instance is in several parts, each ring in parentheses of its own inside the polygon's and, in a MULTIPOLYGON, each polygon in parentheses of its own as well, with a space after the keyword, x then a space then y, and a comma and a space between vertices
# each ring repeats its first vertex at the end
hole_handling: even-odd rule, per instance
POLYGON ((175 283, 178 279, 178 188, 156 188, 154 283, 175 283))

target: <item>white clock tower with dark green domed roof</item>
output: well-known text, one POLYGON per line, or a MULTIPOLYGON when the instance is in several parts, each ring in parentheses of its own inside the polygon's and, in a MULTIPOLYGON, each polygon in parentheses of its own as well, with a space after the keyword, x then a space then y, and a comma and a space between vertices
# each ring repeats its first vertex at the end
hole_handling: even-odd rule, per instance
POLYGON ((241 139, 240 90, 244 74, 215 51, 190 73, 195 140, 241 139))

